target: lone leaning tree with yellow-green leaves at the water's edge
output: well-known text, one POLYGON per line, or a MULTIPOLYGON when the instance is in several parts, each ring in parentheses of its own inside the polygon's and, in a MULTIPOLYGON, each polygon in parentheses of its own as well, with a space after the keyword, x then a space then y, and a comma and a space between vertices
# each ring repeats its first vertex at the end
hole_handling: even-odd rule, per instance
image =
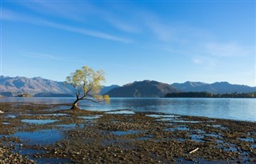
POLYGON ((95 103, 110 101, 108 95, 101 96, 101 82, 105 82, 104 72, 102 70, 94 71, 92 68, 83 66, 81 69, 72 72, 70 76, 66 77, 66 83, 74 87, 76 100, 70 109, 80 110, 78 101, 89 100, 95 103))

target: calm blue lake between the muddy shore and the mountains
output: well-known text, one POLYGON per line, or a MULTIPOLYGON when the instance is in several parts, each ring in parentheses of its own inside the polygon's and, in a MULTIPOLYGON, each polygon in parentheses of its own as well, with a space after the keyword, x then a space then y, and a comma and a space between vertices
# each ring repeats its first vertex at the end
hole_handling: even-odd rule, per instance
MULTIPOLYGON (((0 102, 73 103, 74 98, 2 98, 0 102)), ((109 104, 81 101, 79 107, 90 111, 132 110, 166 114, 206 116, 219 119, 256 121, 255 99, 210 98, 111 98, 109 104)), ((62 109, 69 108, 62 106, 62 109)))

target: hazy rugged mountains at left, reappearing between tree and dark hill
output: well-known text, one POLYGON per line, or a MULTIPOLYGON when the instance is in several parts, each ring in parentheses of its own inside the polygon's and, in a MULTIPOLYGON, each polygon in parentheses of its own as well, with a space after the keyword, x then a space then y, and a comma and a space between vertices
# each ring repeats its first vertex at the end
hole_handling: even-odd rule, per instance
MULTIPOLYGON (((116 87, 119 86, 104 86, 101 94, 106 94, 110 89, 116 87)), ((70 84, 43 79, 42 77, 0 76, 0 92, 0 95, 7 97, 19 96, 23 93, 43 97, 74 96, 74 88, 70 84)))

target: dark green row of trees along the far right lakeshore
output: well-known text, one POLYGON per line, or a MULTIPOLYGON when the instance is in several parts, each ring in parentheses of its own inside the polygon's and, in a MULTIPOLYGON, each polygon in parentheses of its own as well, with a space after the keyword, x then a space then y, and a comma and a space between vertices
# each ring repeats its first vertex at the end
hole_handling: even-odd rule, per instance
POLYGON ((225 93, 225 94, 214 94, 209 92, 178 92, 178 93, 167 93, 166 97, 204 97, 204 98, 256 98, 256 92, 248 93, 225 93))

